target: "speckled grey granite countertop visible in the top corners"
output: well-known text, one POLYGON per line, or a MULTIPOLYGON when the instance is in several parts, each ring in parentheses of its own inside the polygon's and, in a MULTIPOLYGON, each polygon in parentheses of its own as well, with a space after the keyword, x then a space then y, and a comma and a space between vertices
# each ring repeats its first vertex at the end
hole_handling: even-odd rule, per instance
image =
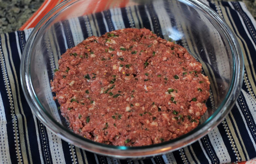
MULTIPOLYGON (((256 19, 256 0, 242 1, 256 19)), ((0 0, 0 34, 18 30, 43 2, 44 0, 0 0)))

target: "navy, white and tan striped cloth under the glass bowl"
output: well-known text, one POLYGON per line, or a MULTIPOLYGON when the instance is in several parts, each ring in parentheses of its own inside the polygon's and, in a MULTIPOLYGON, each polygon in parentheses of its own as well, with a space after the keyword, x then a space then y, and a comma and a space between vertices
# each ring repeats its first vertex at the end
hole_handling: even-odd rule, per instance
POLYGON ((228 163, 256 157, 256 23, 242 2, 205 3, 227 22, 240 43, 245 74, 229 115, 208 135, 177 151, 145 160, 118 160, 75 147, 31 112, 21 89, 19 64, 32 29, 0 35, 0 161, 4 163, 228 163), (252 55, 251 55, 252 54, 252 55), (12 157, 11 157, 12 155, 12 157))

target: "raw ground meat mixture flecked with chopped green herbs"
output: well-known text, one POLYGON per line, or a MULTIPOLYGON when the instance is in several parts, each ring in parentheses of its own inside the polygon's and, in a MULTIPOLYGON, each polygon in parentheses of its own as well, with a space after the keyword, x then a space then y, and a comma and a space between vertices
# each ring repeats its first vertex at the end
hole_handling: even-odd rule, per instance
POLYGON ((74 133, 143 146, 194 129, 206 112, 208 77, 187 50, 148 29, 92 36, 68 49, 51 81, 74 133))

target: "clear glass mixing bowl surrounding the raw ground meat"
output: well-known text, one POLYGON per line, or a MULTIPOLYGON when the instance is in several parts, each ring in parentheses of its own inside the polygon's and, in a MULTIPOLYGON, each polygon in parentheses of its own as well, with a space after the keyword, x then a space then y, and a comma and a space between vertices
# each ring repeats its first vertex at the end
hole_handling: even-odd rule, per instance
POLYGON ((36 116, 54 133, 83 149, 116 158, 144 158, 177 150, 216 127, 234 105, 242 84, 243 57, 227 24, 197 0, 71 0, 55 7, 34 28, 21 61, 25 97, 36 116), (174 140, 142 147, 111 146, 74 134, 52 100, 50 80, 60 55, 91 35, 146 27, 175 40, 202 63, 209 77, 208 110, 200 125, 174 140))

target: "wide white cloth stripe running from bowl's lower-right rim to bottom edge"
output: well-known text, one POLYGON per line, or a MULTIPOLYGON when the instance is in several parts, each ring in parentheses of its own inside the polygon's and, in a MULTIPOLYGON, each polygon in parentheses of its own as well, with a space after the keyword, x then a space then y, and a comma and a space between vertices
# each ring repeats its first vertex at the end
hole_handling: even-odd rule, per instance
POLYGON ((225 146, 225 143, 223 142, 223 139, 221 137, 221 134, 220 134, 218 128, 212 129, 208 133, 208 136, 210 138, 212 147, 214 148, 216 155, 220 160, 220 163, 231 162, 231 158, 229 156, 228 150, 225 146))

